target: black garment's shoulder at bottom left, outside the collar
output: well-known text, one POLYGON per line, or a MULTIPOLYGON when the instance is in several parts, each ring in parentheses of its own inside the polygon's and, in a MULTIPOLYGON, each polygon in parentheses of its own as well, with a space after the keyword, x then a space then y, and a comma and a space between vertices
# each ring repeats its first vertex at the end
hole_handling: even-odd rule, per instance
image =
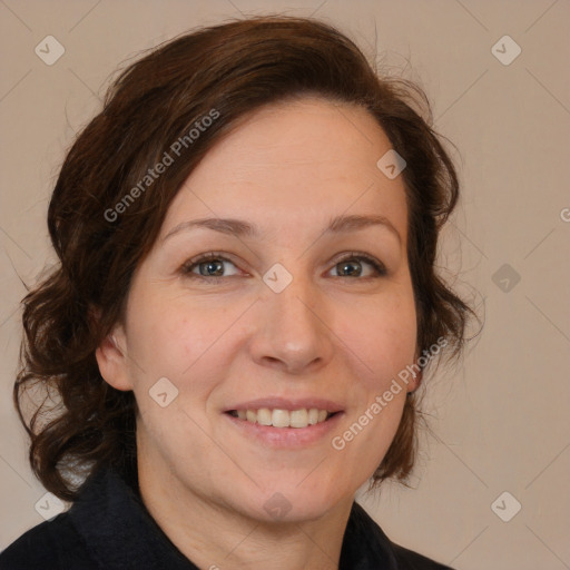
POLYGON ((31 528, 0 552, 0 570, 60 568, 96 568, 67 512, 31 528))

